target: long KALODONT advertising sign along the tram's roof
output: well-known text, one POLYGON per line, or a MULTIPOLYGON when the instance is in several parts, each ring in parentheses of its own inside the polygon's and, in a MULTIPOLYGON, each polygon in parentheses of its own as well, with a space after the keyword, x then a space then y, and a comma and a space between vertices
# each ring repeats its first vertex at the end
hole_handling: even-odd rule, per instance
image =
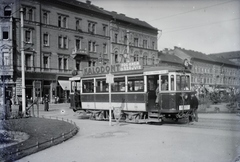
POLYGON ((139 62, 128 62, 113 65, 102 65, 95 67, 87 67, 83 70, 83 75, 96 75, 96 74, 108 74, 117 73, 122 71, 134 71, 141 70, 143 67, 139 62))

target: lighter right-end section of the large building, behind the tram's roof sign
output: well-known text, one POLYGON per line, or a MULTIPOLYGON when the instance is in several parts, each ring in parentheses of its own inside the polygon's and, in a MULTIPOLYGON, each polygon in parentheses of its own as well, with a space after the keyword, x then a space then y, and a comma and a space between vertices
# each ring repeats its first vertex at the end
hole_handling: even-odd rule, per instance
POLYGON ((158 64, 158 29, 124 14, 108 12, 110 22, 111 63, 138 61, 143 66, 158 64))

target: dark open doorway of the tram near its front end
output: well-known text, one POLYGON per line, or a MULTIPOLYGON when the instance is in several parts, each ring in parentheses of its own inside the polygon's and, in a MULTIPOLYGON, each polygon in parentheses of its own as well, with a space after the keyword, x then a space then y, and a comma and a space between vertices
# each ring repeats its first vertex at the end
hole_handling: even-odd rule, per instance
POLYGON ((158 111, 156 106, 156 89, 158 87, 159 75, 147 76, 147 92, 148 92, 148 111, 158 111))

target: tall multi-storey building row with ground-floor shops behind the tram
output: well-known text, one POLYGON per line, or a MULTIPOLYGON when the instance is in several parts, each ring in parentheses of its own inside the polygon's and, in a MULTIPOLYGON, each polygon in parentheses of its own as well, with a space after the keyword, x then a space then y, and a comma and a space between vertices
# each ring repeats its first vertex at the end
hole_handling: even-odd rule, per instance
POLYGON ((65 102, 70 89, 68 79, 84 67, 124 61, 145 65, 157 62, 156 28, 106 11, 89 0, 0 3, 0 50, 4 58, 0 65, 4 69, 0 72, 1 86, 8 87, 7 93, 14 99, 22 94, 22 66, 28 99, 48 95, 51 102, 56 97, 65 102), (25 65, 21 65, 21 50, 25 65))

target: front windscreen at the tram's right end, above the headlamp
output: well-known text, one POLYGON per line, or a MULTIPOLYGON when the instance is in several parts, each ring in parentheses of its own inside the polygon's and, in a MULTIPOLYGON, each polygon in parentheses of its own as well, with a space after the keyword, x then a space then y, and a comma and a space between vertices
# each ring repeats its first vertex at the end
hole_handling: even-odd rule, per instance
POLYGON ((177 91, 190 90, 190 77, 188 75, 177 75, 177 91))

